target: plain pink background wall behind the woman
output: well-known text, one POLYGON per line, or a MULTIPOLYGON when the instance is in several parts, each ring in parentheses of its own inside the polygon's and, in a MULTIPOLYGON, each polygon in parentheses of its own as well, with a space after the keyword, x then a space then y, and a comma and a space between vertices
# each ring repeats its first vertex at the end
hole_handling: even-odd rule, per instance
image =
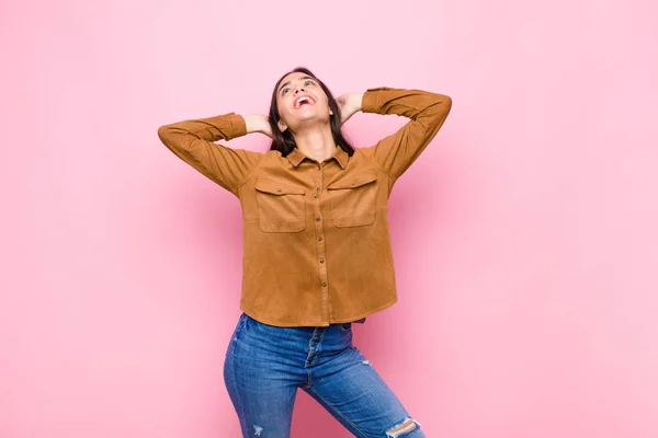
MULTIPOLYGON (((354 328, 427 435, 658 436, 655 2, 12 3, 1 437, 239 436, 239 203, 157 128, 266 113, 298 65, 453 97, 390 199, 399 302, 354 328)), ((348 436, 298 392, 293 437, 348 436)))

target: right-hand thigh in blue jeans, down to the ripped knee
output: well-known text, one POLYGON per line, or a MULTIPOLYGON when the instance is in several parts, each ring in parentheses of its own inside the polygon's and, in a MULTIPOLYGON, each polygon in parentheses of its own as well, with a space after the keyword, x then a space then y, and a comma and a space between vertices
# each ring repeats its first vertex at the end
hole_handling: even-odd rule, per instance
POLYGON ((356 437, 424 438, 420 423, 354 346, 314 367, 310 383, 300 388, 356 437))

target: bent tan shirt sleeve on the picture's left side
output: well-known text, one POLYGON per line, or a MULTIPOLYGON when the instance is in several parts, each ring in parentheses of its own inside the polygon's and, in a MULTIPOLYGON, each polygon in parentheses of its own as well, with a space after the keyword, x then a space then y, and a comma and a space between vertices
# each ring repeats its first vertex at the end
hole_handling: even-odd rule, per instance
POLYGON ((236 196, 239 196, 238 187, 264 154, 231 149, 214 141, 245 135, 247 124, 236 113, 179 122, 158 128, 158 137, 170 151, 236 196))

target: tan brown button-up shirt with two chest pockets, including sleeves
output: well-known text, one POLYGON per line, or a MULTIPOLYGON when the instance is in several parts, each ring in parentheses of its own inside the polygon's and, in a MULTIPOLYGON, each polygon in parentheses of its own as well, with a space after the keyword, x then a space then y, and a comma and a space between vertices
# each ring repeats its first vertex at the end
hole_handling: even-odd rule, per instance
POLYGON ((236 113, 158 129, 183 161, 240 199, 243 220, 240 310, 277 326, 364 321, 397 301, 388 197, 443 125, 443 94, 387 87, 363 94, 362 112, 408 117, 397 132, 322 163, 231 149, 247 134, 236 113))

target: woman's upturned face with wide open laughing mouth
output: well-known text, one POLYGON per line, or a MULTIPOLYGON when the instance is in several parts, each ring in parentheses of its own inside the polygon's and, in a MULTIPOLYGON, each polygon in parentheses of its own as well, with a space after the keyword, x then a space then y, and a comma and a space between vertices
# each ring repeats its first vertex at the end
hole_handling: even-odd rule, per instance
POLYGON ((304 72, 290 73, 282 79, 276 90, 276 105, 282 132, 288 128, 295 132, 309 122, 329 123, 332 114, 318 81, 304 72))

